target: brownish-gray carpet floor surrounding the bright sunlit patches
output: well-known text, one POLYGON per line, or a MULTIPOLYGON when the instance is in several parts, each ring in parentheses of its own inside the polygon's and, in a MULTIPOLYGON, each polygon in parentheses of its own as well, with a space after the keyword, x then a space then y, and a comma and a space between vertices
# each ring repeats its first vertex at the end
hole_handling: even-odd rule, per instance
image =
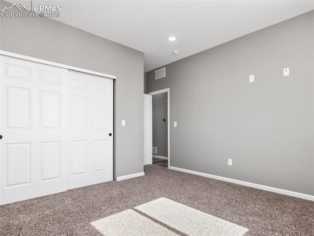
POLYGON ((156 165, 144 171, 130 180, 0 206, 0 236, 103 236, 90 222, 161 197, 249 229, 244 236, 314 235, 313 201, 156 165))

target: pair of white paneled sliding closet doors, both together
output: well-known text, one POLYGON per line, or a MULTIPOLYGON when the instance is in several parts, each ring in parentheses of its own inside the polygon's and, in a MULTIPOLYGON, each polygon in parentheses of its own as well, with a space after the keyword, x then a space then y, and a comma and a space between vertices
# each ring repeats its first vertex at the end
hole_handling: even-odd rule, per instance
POLYGON ((112 79, 0 55, 0 205, 113 179, 112 79))

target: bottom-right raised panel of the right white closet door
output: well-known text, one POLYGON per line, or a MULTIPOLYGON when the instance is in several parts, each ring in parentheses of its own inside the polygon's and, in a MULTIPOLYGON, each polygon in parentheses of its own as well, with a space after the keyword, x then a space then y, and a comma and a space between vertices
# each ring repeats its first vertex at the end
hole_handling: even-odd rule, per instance
POLYGON ((107 141, 94 140, 94 172, 107 169, 107 141))

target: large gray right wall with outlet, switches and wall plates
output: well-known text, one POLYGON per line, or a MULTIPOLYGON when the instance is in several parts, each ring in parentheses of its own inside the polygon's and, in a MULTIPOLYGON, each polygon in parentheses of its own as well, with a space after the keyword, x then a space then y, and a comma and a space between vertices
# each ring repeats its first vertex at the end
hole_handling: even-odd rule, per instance
POLYGON ((314 195, 313 57, 314 11, 148 72, 170 88, 171 166, 314 195))

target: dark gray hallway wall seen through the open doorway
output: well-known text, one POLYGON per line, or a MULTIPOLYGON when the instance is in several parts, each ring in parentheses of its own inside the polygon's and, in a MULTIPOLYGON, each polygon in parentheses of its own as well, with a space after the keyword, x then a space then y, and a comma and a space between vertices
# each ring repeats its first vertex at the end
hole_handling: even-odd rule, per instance
POLYGON ((168 94, 161 93, 152 97, 153 147, 157 147, 157 155, 168 157, 168 94), (166 122, 163 122, 166 119, 166 122))

